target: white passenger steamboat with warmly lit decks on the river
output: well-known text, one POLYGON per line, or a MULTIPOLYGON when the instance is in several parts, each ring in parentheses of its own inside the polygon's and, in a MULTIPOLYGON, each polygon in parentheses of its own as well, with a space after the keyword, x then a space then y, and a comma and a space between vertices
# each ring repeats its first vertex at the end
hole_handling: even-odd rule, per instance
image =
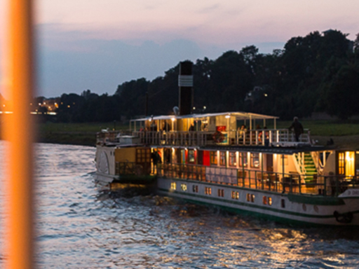
POLYGON ((97 179, 276 221, 358 226, 355 151, 313 145, 309 130, 295 142, 276 119, 226 112, 131 120, 128 135, 97 134, 97 179), (249 129, 237 130, 240 122, 249 129), (252 129, 259 122, 273 128, 252 129))

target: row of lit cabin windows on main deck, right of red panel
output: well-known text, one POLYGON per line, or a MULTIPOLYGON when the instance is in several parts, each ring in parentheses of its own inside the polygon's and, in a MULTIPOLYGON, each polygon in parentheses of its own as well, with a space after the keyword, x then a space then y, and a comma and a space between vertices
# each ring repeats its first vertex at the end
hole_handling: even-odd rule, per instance
MULTIPOLYGON (((230 167, 237 166, 236 152, 229 152, 228 165, 230 167)), ((238 152, 238 165, 240 167, 248 166, 248 153, 238 152)), ((210 151, 210 164, 218 165, 217 151, 210 151)), ((226 151, 219 152, 219 165, 226 166, 226 151)), ((250 153, 250 167, 259 167, 259 153, 250 153)))

